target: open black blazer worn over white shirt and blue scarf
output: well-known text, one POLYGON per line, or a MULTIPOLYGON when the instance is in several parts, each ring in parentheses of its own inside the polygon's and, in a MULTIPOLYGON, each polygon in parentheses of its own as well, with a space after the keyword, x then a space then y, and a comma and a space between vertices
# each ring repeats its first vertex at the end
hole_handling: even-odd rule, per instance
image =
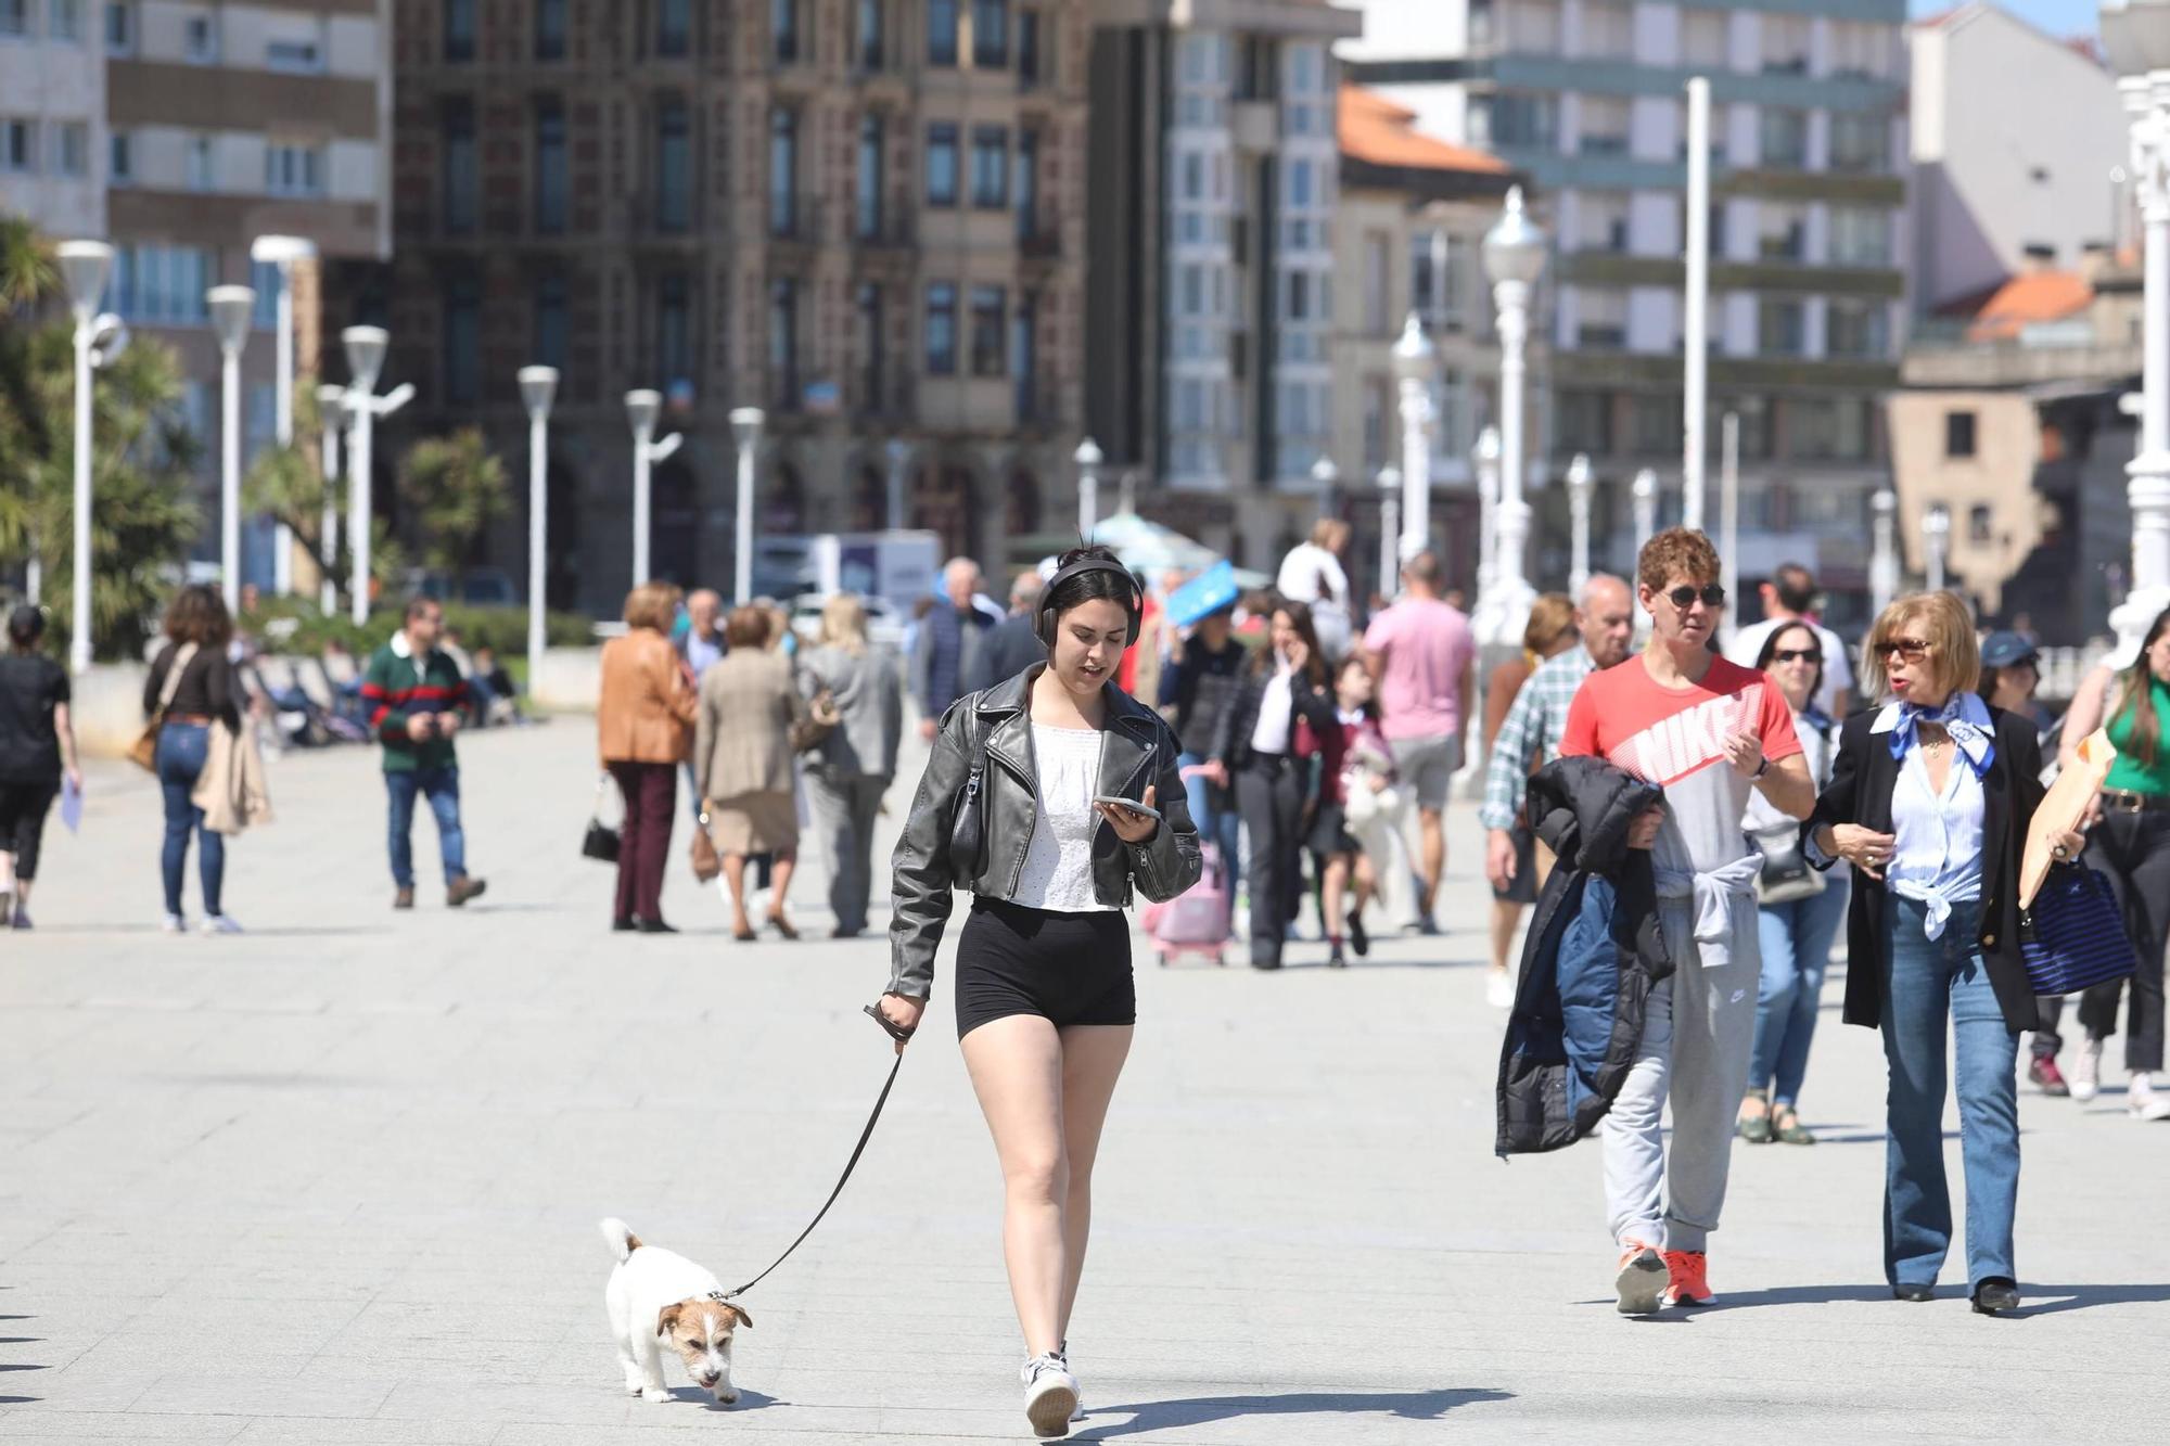
MULTIPOLYGON (((1801 825, 1814 829, 1858 823, 1877 834, 1892 832, 1892 788, 1899 762, 1890 736, 1868 727, 1881 708, 1847 719, 1838 734, 1831 782, 1816 799, 1816 812, 1801 825)), ((1981 779, 1981 957, 1990 966, 1990 988, 2014 1031, 2035 1027, 2035 994, 2020 957, 2020 851, 2027 825, 2042 803, 2042 743, 2033 723, 1990 710, 1996 725, 1996 760, 1981 779)), ((1847 905, 1847 1012, 1849 1025, 1875 1029, 1884 1016, 1884 975, 1890 971, 1890 890, 1884 879, 1853 871, 1853 903, 1847 905)))

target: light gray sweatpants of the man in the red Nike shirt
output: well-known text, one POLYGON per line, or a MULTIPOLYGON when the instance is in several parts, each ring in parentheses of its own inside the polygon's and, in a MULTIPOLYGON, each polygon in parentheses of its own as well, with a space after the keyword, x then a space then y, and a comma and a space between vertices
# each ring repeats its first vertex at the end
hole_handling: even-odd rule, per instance
POLYGON ((1719 1229, 1762 977, 1756 899, 1736 895, 1729 916, 1732 957, 1723 968, 1706 968, 1693 901, 1658 901, 1658 923, 1680 968, 1651 990, 1643 1049, 1601 1127, 1606 1216, 1623 1246, 1636 1240, 1660 1251, 1701 1251, 1703 1238, 1719 1229), (1669 1094, 1671 1159, 1662 1131, 1669 1094))

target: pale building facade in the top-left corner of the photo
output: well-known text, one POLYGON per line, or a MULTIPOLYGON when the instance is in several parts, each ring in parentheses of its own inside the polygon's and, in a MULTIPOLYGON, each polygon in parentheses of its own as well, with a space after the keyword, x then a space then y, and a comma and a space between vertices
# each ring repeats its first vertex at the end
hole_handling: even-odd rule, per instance
POLYGON ((0 0, 0 213, 106 234, 106 52, 89 0, 0 0))

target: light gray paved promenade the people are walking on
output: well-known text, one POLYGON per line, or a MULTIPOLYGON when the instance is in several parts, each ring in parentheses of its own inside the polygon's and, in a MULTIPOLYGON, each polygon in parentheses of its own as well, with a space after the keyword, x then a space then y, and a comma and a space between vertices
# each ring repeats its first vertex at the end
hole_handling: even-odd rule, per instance
MULTIPOLYGON (((577 858, 590 740, 577 719, 462 740, 490 879, 462 914, 427 875, 412 914, 386 908, 371 756, 276 762, 282 821, 230 849, 250 931, 226 940, 158 934, 156 792, 93 773, 82 836, 52 825, 39 929, 0 936, 0 1442, 1026 1435, 946 988, 859 1179, 746 1298, 740 1407, 675 1368, 671 1405, 621 1392, 595 1220, 727 1285, 760 1270, 888 1070, 859 1014, 888 962, 733 944, 677 860, 686 934, 610 934, 608 868, 577 858)), ((1491 1157, 1502 1016, 1476 825, 1454 827, 1445 940, 1348 973, 1319 944, 1276 977, 1146 962, 1074 1439, 2163 1439, 2170 1127, 2027 1094, 2027 1311, 1970 1316, 1949 1270, 1949 1298, 1894 1303, 1884 1064, 1838 1025, 1836 975, 1803 1101, 1823 1142, 1736 1151, 1723 1307, 1621 1320, 1597 1146, 1491 1157)), ((794 895, 825 940, 818 871, 794 895)))

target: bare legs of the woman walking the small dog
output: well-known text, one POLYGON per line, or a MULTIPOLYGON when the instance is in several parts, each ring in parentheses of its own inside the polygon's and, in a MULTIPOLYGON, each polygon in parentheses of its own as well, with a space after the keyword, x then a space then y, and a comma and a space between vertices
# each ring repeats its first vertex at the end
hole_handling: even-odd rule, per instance
POLYGON ((1003 1261, 1026 1355, 1057 1350, 1092 1229, 1092 1162, 1131 1025, 1057 1033, 1009 1014, 963 1036, 972 1092, 1003 1162, 1003 1261))

